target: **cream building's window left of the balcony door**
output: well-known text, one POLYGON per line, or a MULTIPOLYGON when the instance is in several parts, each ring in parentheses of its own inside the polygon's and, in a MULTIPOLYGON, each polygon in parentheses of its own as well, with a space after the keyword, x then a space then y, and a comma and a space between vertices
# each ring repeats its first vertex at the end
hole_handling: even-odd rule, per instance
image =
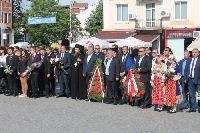
POLYGON ((127 22, 128 21, 128 4, 116 5, 117 8, 117 22, 127 22))

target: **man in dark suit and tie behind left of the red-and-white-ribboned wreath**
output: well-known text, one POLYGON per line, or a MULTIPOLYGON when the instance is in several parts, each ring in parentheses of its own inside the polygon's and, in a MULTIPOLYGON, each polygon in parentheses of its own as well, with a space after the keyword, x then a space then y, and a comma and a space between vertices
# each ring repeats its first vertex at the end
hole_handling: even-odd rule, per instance
MULTIPOLYGON (((128 53, 128 46, 123 46, 122 53, 120 53, 118 56, 119 61, 120 61, 120 77, 121 78, 128 73, 128 71, 126 70, 126 63, 129 57, 130 57, 130 54, 128 53)), ((123 95, 124 92, 123 91, 119 91, 119 92, 121 93, 119 95, 121 97, 121 95, 123 95)), ((124 97, 124 99, 122 99, 120 104, 124 104, 125 102, 127 102, 127 100, 124 97)))

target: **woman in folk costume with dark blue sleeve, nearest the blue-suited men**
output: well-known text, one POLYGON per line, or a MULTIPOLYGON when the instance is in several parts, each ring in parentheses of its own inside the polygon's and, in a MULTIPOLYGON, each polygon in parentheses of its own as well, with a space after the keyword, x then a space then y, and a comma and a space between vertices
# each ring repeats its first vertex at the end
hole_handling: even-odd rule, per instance
POLYGON ((181 89, 178 83, 178 79, 181 77, 180 67, 176 63, 174 55, 170 55, 168 61, 171 65, 166 73, 166 105, 170 107, 170 113, 176 113, 178 104, 177 96, 181 95, 181 89))

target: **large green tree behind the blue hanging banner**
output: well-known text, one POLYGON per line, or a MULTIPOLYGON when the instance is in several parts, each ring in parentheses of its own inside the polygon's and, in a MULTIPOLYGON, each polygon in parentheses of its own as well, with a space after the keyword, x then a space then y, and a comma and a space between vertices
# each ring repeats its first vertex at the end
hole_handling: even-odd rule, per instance
MULTIPOLYGON (((30 42, 39 45, 49 45, 63 39, 69 31, 69 11, 58 5, 55 0, 34 0, 29 10, 24 14, 23 22, 28 32, 30 42), (48 17, 56 16, 54 24, 28 25, 28 17, 48 17)), ((78 29, 80 22, 76 17, 72 17, 74 22, 72 27, 78 29)))

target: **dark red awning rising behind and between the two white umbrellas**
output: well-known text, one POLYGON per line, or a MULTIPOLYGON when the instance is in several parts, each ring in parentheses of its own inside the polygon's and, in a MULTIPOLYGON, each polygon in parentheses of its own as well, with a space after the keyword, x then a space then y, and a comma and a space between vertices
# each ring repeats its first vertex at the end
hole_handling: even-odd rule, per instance
POLYGON ((93 37, 103 40, 120 40, 133 36, 135 31, 101 31, 93 37))

